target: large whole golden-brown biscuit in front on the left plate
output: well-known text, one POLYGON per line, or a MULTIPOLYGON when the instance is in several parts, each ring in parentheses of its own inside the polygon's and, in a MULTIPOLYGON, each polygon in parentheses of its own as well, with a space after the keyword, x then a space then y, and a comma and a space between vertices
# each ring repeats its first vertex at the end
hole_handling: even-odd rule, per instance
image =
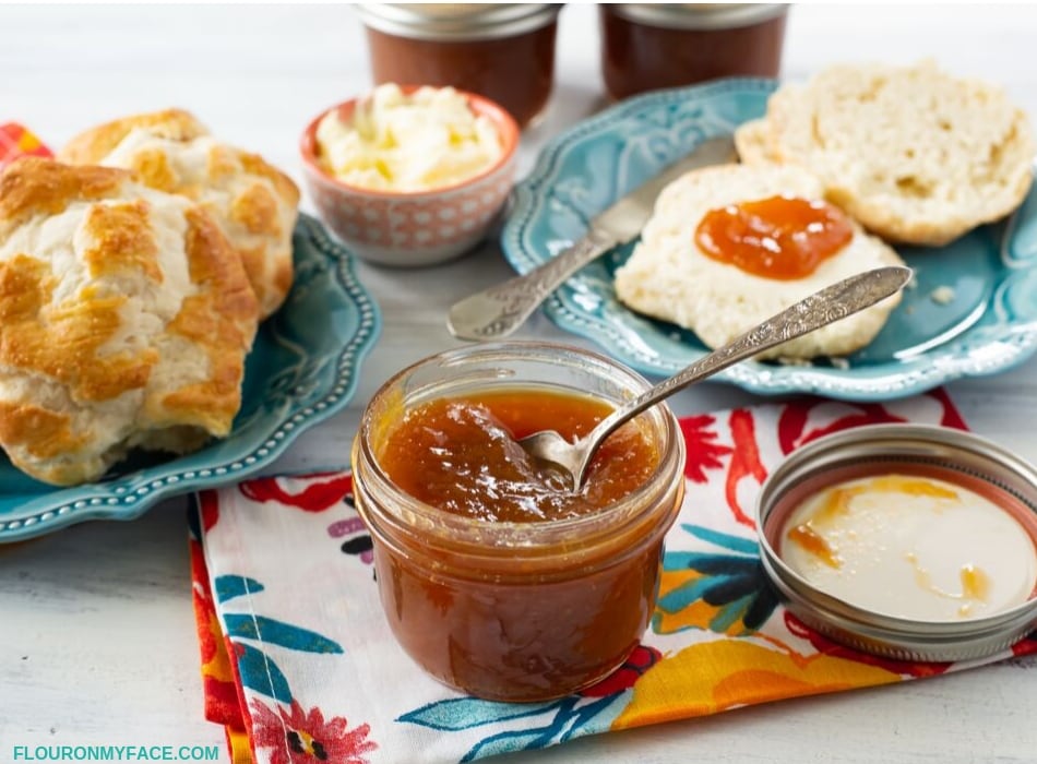
POLYGON ((258 323, 198 204, 107 167, 0 175, 0 445, 28 475, 92 481, 132 447, 226 435, 258 323))

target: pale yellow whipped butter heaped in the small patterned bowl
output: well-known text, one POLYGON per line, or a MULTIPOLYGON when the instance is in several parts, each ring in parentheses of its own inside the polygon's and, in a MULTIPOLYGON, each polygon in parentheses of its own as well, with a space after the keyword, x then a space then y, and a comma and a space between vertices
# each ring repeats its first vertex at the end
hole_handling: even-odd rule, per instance
POLYGON ((357 188, 421 192, 456 186, 492 168, 503 154, 493 123, 452 87, 378 86, 351 118, 330 111, 317 128, 318 158, 329 175, 357 188))

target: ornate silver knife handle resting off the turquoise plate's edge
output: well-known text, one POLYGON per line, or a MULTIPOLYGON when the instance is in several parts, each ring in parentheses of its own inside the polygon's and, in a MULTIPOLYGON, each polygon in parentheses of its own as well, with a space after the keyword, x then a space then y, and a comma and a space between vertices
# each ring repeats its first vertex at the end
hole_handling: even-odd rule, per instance
POLYGON ((446 313, 446 327, 461 339, 506 337, 567 278, 616 243, 611 237, 592 230, 529 273, 455 302, 446 313))

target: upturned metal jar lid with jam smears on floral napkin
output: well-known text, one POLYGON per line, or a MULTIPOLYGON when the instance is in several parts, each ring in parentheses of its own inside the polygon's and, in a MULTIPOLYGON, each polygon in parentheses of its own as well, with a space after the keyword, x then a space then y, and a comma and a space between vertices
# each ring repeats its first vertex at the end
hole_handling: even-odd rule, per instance
POLYGON ((1037 626, 1037 470, 976 435, 880 425, 794 452, 758 502, 787 607, 907 660, 1006 649, 1037 626))

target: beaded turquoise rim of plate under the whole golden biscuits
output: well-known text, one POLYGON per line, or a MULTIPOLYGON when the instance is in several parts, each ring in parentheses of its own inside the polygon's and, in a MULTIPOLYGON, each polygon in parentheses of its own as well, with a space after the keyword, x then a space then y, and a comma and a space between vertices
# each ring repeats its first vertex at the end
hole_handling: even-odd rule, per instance
MULTIPOLYGON (((310 427, 341 411, 359 385, 360 365, 381 332, 381 311, 356 275, 353 254, 313 217, 299 213, 296 235, 306 236, 329 259, 330 277, 338 295, 357 312, 357 329, 323 368, 332 378, 318 390, 296 385, 284 396, 284 411, 272 431, 248 452, 203 467, 176 467, 177 458, 114 480, 55 487, 26 501, 32 510, 17 516, 0 514, 0 542, 20 541, 88 520, 134 520, 160 500, 227 485, 262 469, 281 456, 310 427), (315 397, 314 397, 315 395, 315 397)), ((265 392, 265 391, 264 391, 265 392)), ((229 437, 234 438, 234 433, 229 437)), ((227 439, 222 441, 227 442, 227 439)), ((199 453, 186 455, 196 456, 199 453)), ((0 489, 2 491, 2 489, 0 489)), ((16 512, 16 511, 15 511, 16 512)))

